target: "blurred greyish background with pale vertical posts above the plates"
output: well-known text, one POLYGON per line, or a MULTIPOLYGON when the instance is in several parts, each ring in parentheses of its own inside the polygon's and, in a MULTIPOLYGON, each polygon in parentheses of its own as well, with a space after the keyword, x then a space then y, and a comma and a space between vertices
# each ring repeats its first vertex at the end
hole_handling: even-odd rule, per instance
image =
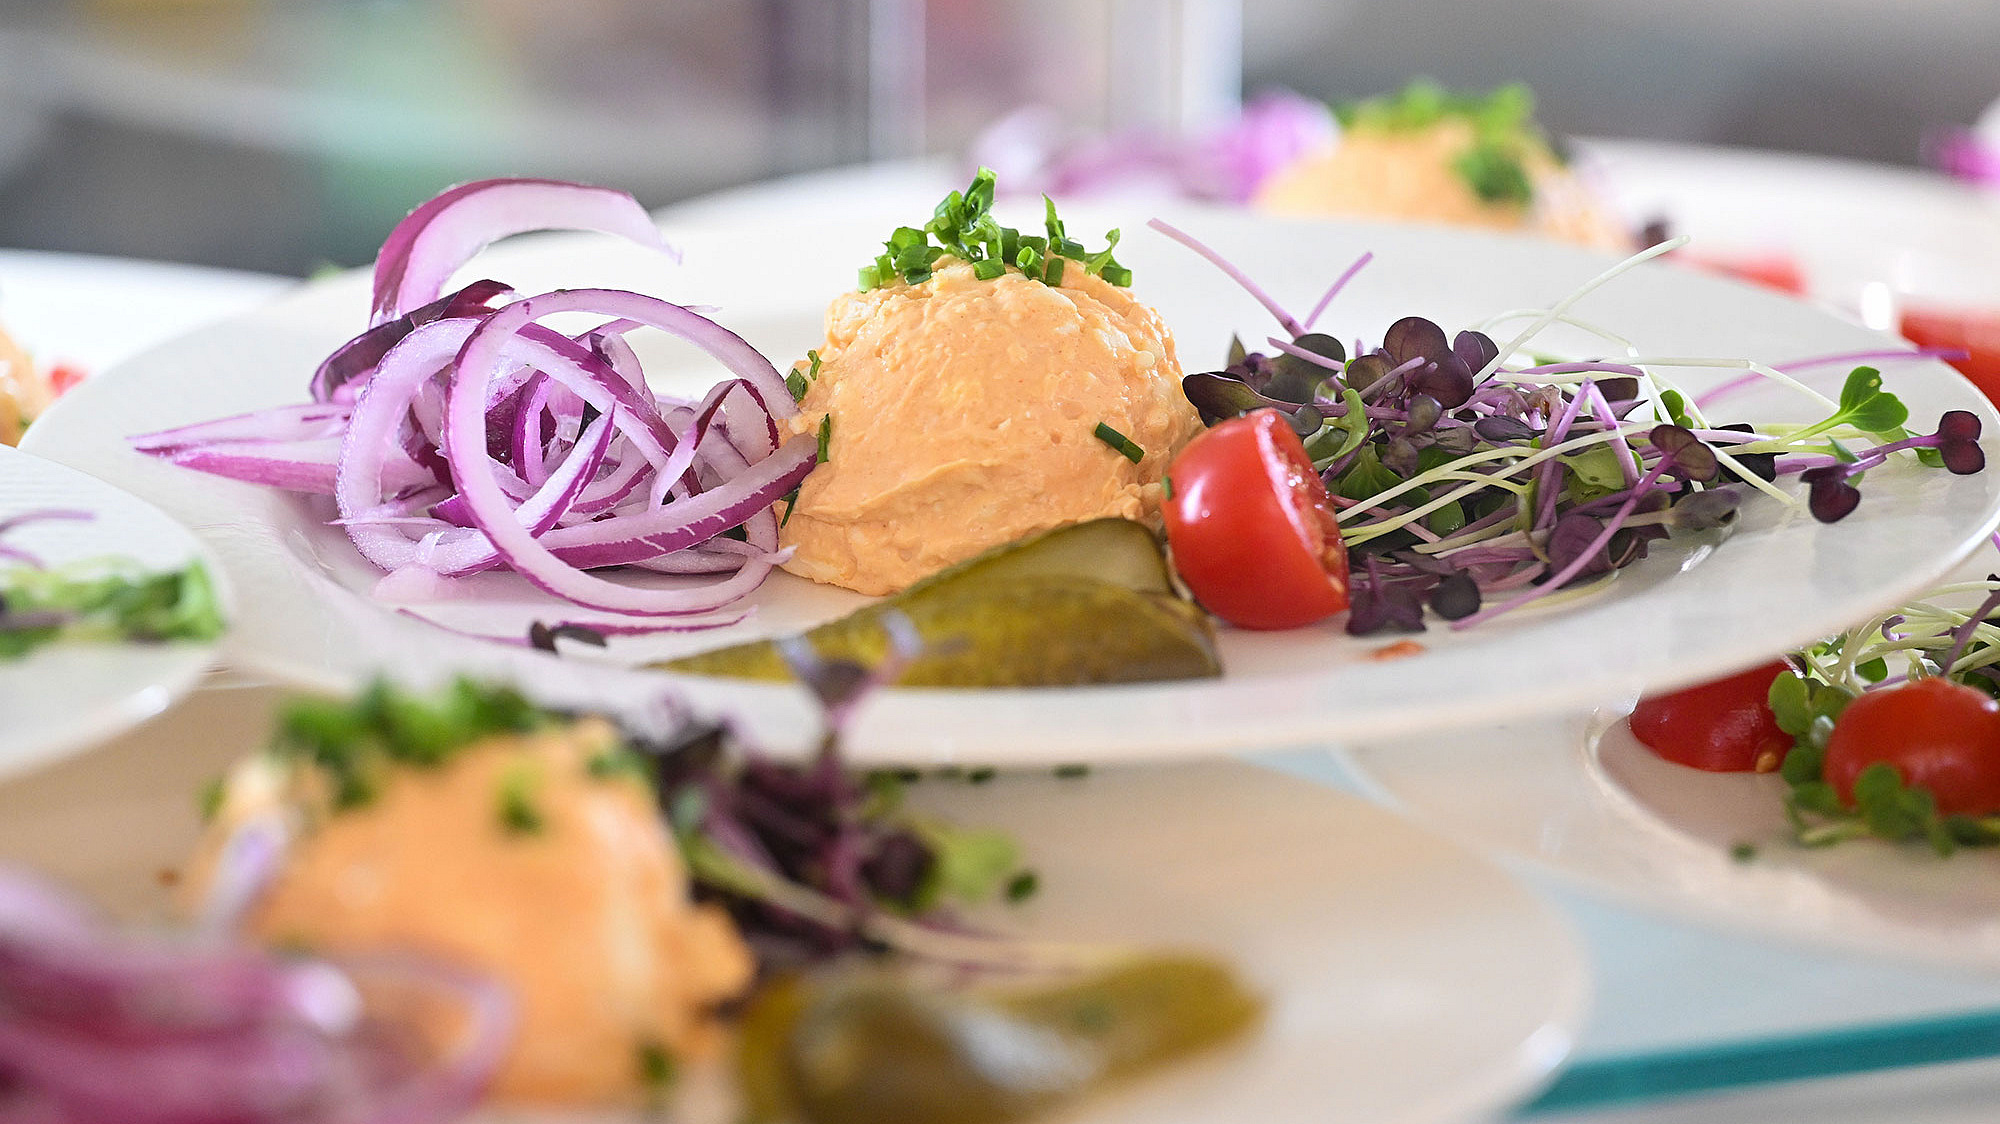
POLYGON ((476 176, 662 206, 1024 104, 1184 132, 1420 74, 1524 80, 1566 134, 1914 164, 2000 96, 2000 2, 0 0, 0 244, 306 274, 476 176))

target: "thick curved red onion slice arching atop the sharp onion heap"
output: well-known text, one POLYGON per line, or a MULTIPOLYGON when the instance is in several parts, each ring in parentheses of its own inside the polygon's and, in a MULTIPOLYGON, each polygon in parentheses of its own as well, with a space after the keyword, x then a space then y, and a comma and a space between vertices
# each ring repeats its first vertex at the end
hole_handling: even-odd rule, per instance
POLYGON ((478 180, 424 202, 396 224, 374 268, 374 322, 438 298, 474 254, 530 230, 600 230, 678 252, 630 194, 564 180, 478 180))

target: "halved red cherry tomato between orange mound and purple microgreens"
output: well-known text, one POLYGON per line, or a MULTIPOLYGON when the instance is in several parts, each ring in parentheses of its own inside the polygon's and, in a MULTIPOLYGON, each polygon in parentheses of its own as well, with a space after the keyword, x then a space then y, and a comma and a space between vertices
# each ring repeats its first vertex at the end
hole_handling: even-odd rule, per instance
POLYGON ((1202 608, 1240 628, 1298 628, 1348 608, 1334 506, 1282 414, 1198 434, 1166 478, 1166 542, 1202 608))

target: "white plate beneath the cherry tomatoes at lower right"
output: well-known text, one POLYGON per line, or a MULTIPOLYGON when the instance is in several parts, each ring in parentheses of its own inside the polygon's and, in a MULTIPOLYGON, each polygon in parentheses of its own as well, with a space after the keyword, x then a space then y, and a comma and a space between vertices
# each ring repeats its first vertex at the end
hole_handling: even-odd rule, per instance
POLYGON ((1588 716, 1342 750, 1382 802, 1488 854, 1632 906, 1820 946, 2000 970, 2000 854, 1802 848, 1778 776, 1660 760, 1588 716), (1754 856, 1734 856, 1738 844, 1754 856))

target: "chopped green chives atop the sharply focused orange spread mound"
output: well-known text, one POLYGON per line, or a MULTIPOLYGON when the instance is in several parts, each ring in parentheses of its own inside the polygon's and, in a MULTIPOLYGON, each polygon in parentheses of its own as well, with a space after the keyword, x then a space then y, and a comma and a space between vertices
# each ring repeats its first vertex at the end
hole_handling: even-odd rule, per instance
MULTIPOLYGON (((1044 234, 1022 234, 1012 226, 1000 226, 992 216, 994 174, 980 168, 972 186, 964 192, 946 194, 932 210, 930 222, 922 230, 898 226, 884 242, 884 254, 858 274, 862 292, 892 284, 922 284, 930 280, 940 258, 956 258, 972 266, 978 280, 998 280, 1012 266, 1028 280, 1062 284, 1068 272, 1066 260, 1076 262, 1086 274, 1100 276, 1110 284, 1132 284, 1132 270, 1112 258, 1118 246, 1118 232, 1106 234, 1108 246, 1092 254, 1082 242, 1068 236, 1056 204, 1042 198, 1044 234)), ((808 376, 810 378, 810 376, 808 376)))

